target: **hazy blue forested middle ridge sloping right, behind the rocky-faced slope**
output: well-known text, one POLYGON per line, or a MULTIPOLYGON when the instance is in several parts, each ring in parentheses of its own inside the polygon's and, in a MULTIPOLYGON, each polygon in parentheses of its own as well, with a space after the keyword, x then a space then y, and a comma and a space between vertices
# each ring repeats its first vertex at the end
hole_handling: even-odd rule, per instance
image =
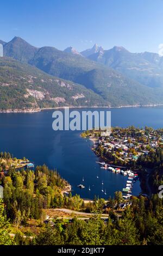
POLYGON ((163 90, 148 88, 111 68, 53 47, 42 47, 30 64, 48 74, 83 84, 111 106, 163 103, 163 90))

